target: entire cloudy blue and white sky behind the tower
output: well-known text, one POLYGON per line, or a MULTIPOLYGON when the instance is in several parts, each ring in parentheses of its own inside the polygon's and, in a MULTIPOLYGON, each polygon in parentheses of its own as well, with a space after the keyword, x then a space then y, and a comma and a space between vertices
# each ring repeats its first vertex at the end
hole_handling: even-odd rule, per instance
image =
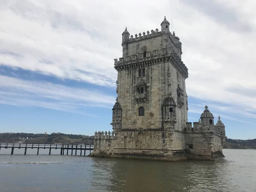
POLYGON ((111 130, 122 32, 163 17, 189 69, 189 122, 204 105, 227 137, 256 138, 253 0, 0 0, 0 132, 111 130))

